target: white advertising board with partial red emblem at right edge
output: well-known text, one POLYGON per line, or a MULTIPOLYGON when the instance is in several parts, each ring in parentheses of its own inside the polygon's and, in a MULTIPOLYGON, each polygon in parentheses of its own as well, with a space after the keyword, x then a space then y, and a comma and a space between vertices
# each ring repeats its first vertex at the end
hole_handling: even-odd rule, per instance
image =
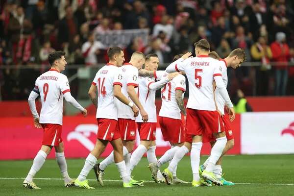
POLYGON ((294 153, 294 112, 242 114, 241 153, 294 153))

